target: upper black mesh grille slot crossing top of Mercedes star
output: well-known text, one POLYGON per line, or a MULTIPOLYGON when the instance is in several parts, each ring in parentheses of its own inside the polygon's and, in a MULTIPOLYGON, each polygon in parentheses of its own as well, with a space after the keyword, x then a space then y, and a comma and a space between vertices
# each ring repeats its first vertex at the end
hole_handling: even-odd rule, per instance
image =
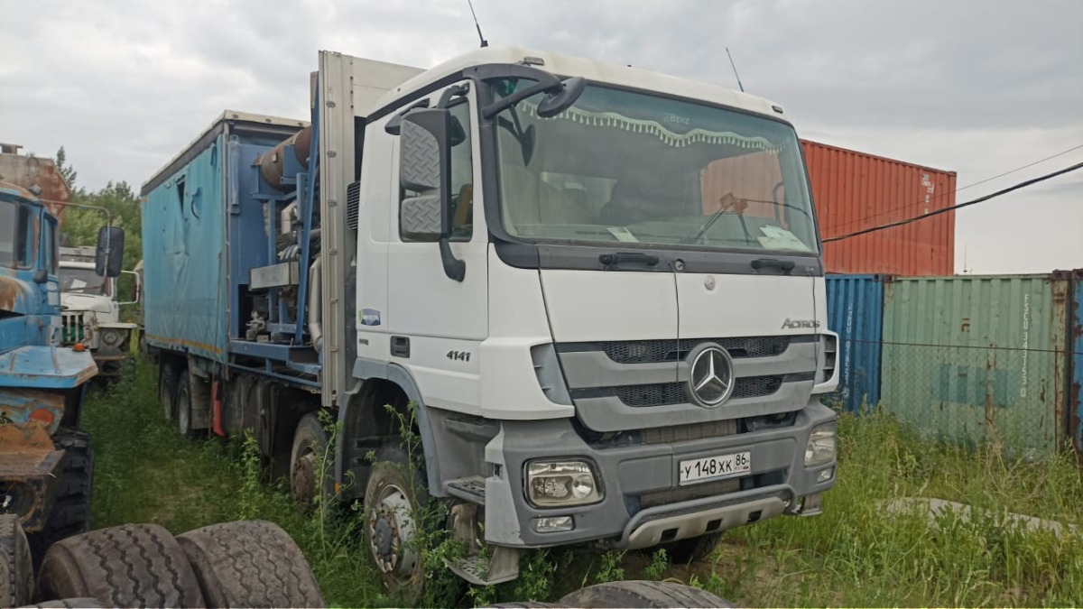
POLYGON ((703 342, 721 345, 733 359, 770 358, 782 354, 790 347, 788 336, 758 336, 749 338, 682 338, 680 340, 621 340, 605 341, 598 346, 618 364, 648 364, 677 362, 703 342))

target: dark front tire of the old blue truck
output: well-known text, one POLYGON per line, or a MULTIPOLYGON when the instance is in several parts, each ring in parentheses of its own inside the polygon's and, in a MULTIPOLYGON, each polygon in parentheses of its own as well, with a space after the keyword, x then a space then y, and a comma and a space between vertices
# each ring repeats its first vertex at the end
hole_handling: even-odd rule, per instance
POLYGON ((64 465, 44 528, 27 535, 35 570, 41 567, 49 546, 90 529, 94 491, 94 448, 90 435, 62 427, 53 433, 53 446, 64 451, 64 465))

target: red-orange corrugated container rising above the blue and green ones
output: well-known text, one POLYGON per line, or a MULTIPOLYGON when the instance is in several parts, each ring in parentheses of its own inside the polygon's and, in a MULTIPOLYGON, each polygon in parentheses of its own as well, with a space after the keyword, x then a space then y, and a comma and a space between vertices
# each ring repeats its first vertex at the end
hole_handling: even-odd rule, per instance
MULTIPOLYGON (((955 205, 955 172, 801 141, 820 235, 831 238, 955 205)), ((955 213, 824 244, 831 273, 950 275, 955 213)))

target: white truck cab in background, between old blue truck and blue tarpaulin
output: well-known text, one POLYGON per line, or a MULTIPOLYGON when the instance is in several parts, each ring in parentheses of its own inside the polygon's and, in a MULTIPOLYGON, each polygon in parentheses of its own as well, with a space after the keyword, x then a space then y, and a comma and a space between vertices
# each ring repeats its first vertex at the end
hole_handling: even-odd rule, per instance
POLYGON ((120 374, 139 325, 120 321, 120 306, 139 302, 140 277, 132 271, 135 289, 131 300, 119 302, 117 280, 95 272, 93 247, 61 247, 60 280, 62 334, 70 346, 84 345, 103 377, 120 374))

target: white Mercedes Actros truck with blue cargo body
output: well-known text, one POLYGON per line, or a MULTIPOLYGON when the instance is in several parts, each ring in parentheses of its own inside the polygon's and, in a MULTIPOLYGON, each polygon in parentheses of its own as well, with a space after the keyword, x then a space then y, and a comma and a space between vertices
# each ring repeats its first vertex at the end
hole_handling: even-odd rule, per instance
POLYGON ((391 585, 423 579, 429 497, 487 548, 452 565, 475 583, 524 548, 687 560, 820 511, 837 341, 779 105, 516 48, 321 52, 308 85, 308 119, 227 111, 143 185, 181 432, 248 430, 299 500, 361 500, 391 585))

